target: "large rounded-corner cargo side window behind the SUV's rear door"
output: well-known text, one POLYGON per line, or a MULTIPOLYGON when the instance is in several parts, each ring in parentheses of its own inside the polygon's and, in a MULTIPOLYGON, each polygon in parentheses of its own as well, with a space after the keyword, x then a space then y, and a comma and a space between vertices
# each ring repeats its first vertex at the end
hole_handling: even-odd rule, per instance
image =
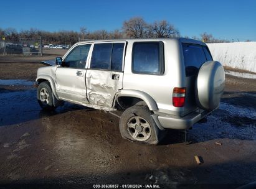
POLYGON ((133 44, 133 73, 163 74, 163 42, 135 42, 133 44))

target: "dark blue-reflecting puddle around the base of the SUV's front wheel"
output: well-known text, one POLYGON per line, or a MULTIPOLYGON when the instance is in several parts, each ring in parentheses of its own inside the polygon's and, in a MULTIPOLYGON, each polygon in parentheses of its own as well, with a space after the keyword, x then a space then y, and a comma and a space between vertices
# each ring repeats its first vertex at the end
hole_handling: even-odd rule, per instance
POLYGON ((36 98, 36 89, 0 91, 0 126, 20 124, 24 121, 53 116, 67 111, 87 109, 77 104, 65 103, 50 113, 42 111, 36 98))

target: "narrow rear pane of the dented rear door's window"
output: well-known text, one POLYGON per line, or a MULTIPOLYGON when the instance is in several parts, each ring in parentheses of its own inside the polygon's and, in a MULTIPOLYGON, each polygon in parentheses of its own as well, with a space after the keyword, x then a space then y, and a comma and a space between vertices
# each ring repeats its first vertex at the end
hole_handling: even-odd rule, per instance
POLYGON ((121 71, 123 65, 123 48, 125 44, 113 44, 111 56, 111 70, 121 71))

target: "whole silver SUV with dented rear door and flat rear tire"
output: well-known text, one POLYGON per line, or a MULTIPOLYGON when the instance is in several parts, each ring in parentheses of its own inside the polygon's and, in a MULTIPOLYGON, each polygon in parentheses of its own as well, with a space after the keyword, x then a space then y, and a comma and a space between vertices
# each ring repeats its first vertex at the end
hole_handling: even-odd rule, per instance
POLYGON ((189 129, 219 107, 224 69, 206 44, 192 39, 79 42, 56 65, 37 71, 37 99, 123 110, 123 138, 158 144, 166 129, 189 129))

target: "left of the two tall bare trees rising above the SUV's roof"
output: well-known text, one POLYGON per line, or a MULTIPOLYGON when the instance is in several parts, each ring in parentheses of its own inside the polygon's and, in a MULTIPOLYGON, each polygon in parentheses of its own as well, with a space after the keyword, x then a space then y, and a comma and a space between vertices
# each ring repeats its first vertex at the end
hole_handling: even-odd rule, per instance
POLYGON ((142 17, 133 17, 129 21, 123 22, 123 32, 127 37, 145 38, 148 25, 142 17))

